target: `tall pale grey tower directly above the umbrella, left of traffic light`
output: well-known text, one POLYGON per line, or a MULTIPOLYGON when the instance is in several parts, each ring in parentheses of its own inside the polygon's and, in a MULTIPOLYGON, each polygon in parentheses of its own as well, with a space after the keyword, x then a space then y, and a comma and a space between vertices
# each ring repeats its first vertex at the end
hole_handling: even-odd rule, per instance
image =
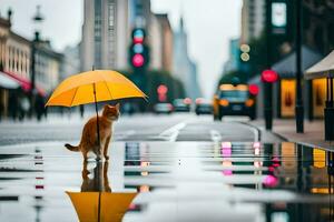
POLYGON ((129 1, 85 0, 81 70, 126 69, 130 37, 129 1))

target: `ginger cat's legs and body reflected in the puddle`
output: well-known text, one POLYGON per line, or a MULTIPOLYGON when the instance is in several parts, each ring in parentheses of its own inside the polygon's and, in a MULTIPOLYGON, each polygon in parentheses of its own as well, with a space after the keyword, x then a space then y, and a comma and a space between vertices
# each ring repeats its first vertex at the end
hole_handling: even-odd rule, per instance
POLYGON ((90 179, 88 174, 90 173, 87 169, 87 161, 84 162, 82 167, 82 184, 81 192, 111 192, 109 180, 108 180, 108 161, 104 163, 97 162, 96 168, 94 169, 94 178, 90 179))

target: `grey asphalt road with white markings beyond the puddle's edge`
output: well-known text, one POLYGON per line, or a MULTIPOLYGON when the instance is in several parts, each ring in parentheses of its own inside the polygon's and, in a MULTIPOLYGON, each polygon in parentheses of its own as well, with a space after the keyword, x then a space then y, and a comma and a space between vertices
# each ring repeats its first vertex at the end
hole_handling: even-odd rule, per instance
MULTIPOLYGON (((0 144, 42 141, 75 143, 80 140, 87 120, 72 115, 51 117, 42 122, 1 122, 0 144)), ((124 115, 115 122, 114 141, 254 141, 257 132, 243 123, 246 121, 239 118, 214 122, 210 115, 197 117, 193 113, 124 115)))

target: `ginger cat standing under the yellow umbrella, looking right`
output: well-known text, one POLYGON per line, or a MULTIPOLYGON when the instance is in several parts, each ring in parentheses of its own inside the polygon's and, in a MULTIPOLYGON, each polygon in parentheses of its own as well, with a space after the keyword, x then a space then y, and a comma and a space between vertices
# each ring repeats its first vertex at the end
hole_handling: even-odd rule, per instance
POLYGON ((98 145, 98 134, 97 134, 97 118, 92 117, 85 124, 81 135, 81 141, 79 145, 75 147, 66 143, 65 147, 75 152, 81 151, 84 155, 84 161, 88 160, 88 152, 92 151, 97 160, 101 160, 101 152, 106 160, 108 157, 108 145, 112 135, 112 122, 119 118, 119 103, 115 107, 106 104, 102 111, 102 115, 99 115, 99 132, 100 132, 100 148, 98 145))

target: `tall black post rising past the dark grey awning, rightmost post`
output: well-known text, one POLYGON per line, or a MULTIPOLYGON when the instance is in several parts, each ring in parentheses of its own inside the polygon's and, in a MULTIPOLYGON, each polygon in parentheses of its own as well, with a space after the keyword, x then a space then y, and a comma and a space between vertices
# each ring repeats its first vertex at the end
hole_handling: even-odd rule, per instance
POLYGON ((304 132, 304 105, 302 94, 302 0, 295 0, 295 12, 296 12, 296 37, 295 37, 295 49, 296 49, 296 132, 304 132))

